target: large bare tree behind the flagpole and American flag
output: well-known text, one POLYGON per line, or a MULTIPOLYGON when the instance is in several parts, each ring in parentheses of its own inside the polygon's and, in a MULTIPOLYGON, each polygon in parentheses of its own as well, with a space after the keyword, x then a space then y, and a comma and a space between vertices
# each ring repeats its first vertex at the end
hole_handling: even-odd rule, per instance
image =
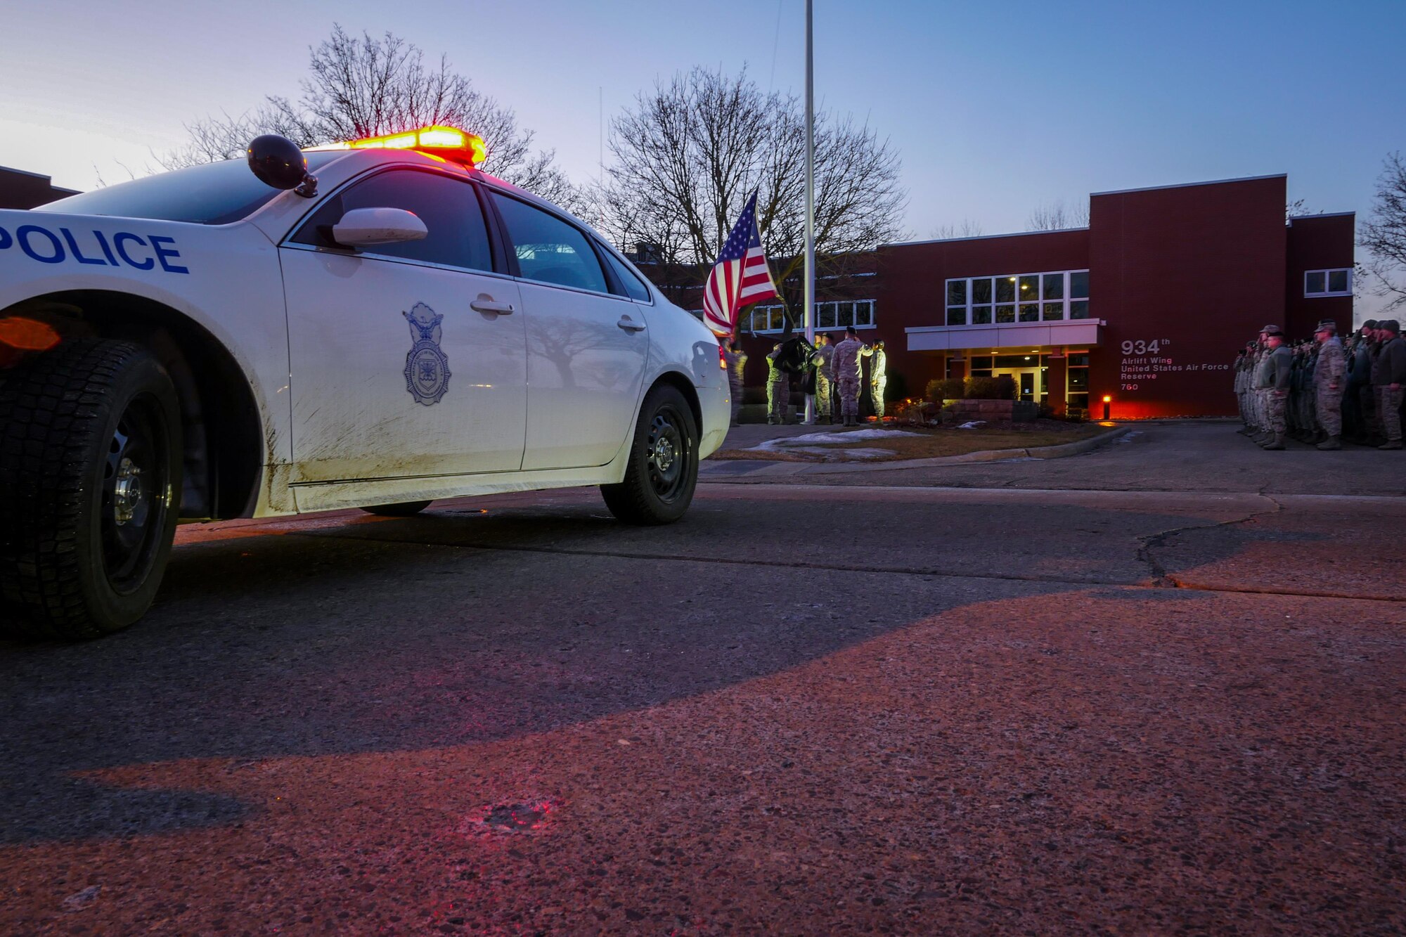
MULTIPOLYGON (((806 124, 794 96, 695 68, 636 97, 610 122, 614 166, 595 191, 617 243, 648 243, 668 266, 711 263, 752 190, 773 276, 804 262, 806 124)), ((830 264, 901 234, 907 194, 889 141, 868 124, 815 115, 815 250, 830 264)), ((696 274, 695 274, 696 279, 696 274)))

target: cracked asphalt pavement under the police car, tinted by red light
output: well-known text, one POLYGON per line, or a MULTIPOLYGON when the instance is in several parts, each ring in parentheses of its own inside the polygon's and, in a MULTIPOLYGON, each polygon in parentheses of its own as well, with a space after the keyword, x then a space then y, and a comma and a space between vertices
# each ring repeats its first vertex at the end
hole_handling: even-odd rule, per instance
POLYGON ((0 644, 0 931, 1400 933, 1403 494, 1149 423, 183 528, 0 644))

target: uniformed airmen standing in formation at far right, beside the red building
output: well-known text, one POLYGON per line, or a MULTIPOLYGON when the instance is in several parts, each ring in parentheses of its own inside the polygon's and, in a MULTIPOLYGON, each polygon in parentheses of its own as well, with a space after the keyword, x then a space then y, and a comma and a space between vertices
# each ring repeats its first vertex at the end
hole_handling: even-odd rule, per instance
POLYGON ((1344 345, 1323 319, 1312 342, 1288 343, 1278 325, 1260 329, 1234 363, 1241 433, 1278 452, 1288 439, 1322 450, 1402 449, 1406 340, 1395 319, 1368 319, 1344 345))

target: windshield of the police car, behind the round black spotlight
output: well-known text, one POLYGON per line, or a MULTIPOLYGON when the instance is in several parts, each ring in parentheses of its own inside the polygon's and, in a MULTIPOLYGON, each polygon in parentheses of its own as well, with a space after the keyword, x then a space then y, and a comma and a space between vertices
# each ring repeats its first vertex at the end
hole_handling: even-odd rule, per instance
MULTIPOLYGON (((308 153, 308 169, 315 173, 343 155, 339 151, 308 153)), ((94 189, 34 211, 224 225, 247 217, 278 191, 259 181, 245 160, 229 159, 94 189)))

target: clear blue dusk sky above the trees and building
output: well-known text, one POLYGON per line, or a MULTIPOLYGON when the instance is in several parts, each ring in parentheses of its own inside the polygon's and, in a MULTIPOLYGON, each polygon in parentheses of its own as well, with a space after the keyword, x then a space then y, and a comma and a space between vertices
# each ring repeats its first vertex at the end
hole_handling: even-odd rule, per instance
MULTIPOLYGON (((695 65, 804 90, 803 0, 3 6, 0 165, 72 189, 149 172, 184 122, 295 96, 333 23, 447 53, 578 181, 598 173, 602 97, 609 121, 695 65)), ((1402 35, 1402 0, 817 0, 815 91, 897 146, 912 238, 1271 173, 1310 211, 1365 215, 1382 158, 1406 149, 1402 35)))

